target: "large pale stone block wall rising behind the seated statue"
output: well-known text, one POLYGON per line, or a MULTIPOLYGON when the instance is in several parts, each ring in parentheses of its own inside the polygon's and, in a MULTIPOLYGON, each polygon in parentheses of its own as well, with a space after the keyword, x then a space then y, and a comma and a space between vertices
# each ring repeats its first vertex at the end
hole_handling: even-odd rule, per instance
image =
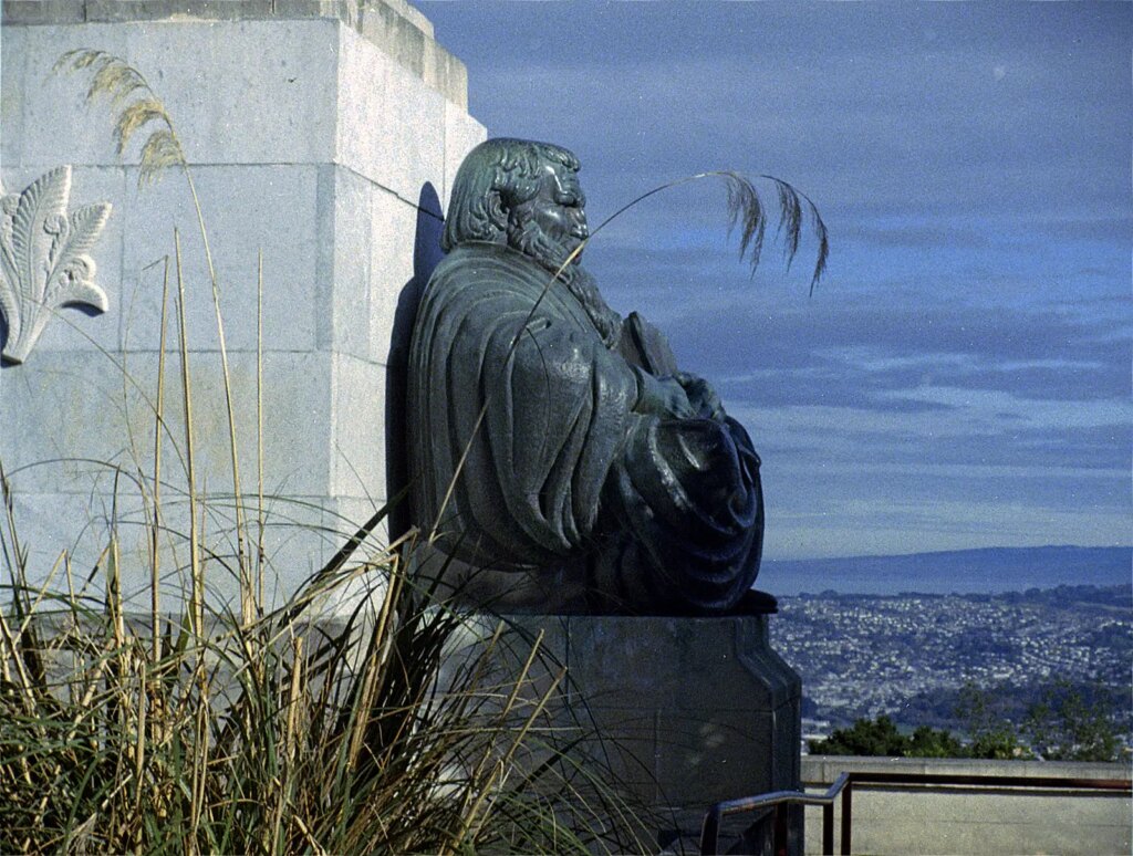
MULTIPOLYGON (((145 75, 181 137, 221 285, 246 493, 256 490, 263 251, 269 588, 289 593, 387 495, 398 356, 414 291, 440 256, 441 200, 485 136, 466 110, 463 66, 401 0, 6 0, 0 40, 5 194, 69 164, 71 209, 113 205, 90 250, 109 311, 60 311, 23 365, 0 367, 0 462, 16 489, 33 575, 45 575, 65 548, 84 572, 93 565, 113 502, 108 463, 152 472, 161 259, 173 252, 174 229, 197 483, 210 494, 232 491, 219 336, 193 199, 173 170, 139 188, 139 148, 152 128, 119 157, 112 109, 84 101, 90 76, 52 74, 66 51, 90 48, 145 75), (37 465, 43 461, 53 463, 37 465)), ((171 325, 171 370, 174 333, 171 325)), ((185 531, 180 411, 169 392, 165 497, 170 515, 180 515, 169 525, 185 531)), ((119 494, 118 517, 138 522, 142 500, 128 479, 119 479, 119 494)), ((230 506, 220 503, 205 523, 221 554, 232 549, 230 506)), ((127 555, 144 564, 139 534, 121 528, 127 555)), ((180 549, 165 567, 185 559, 180 549)), ((232 590, 222 571, 214 583, 221 596, 232 590)), ((128 579, 126 589, 143 584, 128 579)))

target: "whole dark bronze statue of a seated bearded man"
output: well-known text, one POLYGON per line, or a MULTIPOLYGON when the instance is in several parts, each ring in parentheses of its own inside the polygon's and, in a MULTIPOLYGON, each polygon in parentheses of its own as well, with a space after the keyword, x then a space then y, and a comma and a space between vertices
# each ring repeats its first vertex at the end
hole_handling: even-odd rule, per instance
POLYGON ((556 275, 588 236, 578 170, 489 139, 457 173, 410 345, 414 522, 512 608, 732 610, 759 571, 759 456, 577 257, 556 275))

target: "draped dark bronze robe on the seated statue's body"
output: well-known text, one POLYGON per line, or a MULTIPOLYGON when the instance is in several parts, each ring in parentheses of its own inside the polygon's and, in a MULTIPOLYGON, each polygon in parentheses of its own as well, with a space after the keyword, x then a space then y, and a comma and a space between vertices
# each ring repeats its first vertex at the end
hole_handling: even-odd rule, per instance
POLYGON ((565 283, 548 288, 552 275, 470 242, 429 280, 408 367, 415 522, 476 566, 538 573, 583 559, 598 609, 735 606, 763 541, 747 434, 718 414, 638 412, 650 377, 675 371, 657 365, 672 361, 667 345, 603 305, 621 325, 604 339, 565 283))

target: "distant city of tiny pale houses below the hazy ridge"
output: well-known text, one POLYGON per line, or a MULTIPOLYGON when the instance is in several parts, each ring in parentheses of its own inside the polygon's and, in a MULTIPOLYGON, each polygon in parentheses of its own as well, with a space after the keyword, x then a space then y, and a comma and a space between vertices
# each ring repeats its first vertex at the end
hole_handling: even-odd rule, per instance
MULTIPOLYGON (((912 587, 887 593, 844 593, 821 579, 815 593, 780 596, 780 615, 770 623, 772 642, 802 676, 807 736, 827 736, 834 728, 881 713, 905 728, 962 728, 956 705, 968 683, 998 699, 1004 716, 1012 719, 1021 717, 1025 703, 1038 700, 1045 687, 1065 680, 1113 693, 1118 700, 1118 727, 1128 741, 1133 728, 1131 551, 1107 549, 1100 566, 1068 582, 1065 567, 1059 574, 1047 564, 1050 549, 1033 551, 1041 559, 1039 572, 1031 565, 1014 579, 1002 573, 1002 566, 985 566, 954 574, 949 582, 922 573, 934 564, 931 557, 939 559, 937 570, 943 570, 955 564, 960 554, 911 557, 921 572, 919 580, 932 580, 937 589, 954 587, 956 593, 918 593, 912 587), (987 592, 983 581, 988 577, 994 580, 995 593, 987 592), (1077 582, 1083 579, 1089 584, 1077 582), (983 591, 963 592, 973 580, 980 581, 983 591), (1022 585, 1016 580, 1048 584, 1022 585)), ((970 551, 969 558, 980 558, 973 554, 983 558, 1005 555, 970 551)), ((1066 555, 1072 565, 1081 558, 1066 555)), ((1021 551, 1006 551, 1006 556, 1002 565, 1019 566, 1024 558, 1021 551)), ((887 577, 900 558, 870 560, 887 577)), ((854 560, 845 563, 843 570, 859 591, 888 584, 876 574, 852 576, 854 560)), ((778 594, 773 579, 774 571, 766 580, 761 573, 759 588, 778 594)))

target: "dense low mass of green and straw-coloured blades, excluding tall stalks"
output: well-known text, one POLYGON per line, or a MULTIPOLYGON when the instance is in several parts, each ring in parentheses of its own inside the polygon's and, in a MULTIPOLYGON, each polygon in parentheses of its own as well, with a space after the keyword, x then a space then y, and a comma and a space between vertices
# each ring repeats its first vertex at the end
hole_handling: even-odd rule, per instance
POLYGON ((125 614, 113 536, 104 597, 33 589, 0 483, 11 596, 0 614, 0 851, 595 844, 563 823, 555 802, 573 791, 559 761, 518 764, 551 745, 544 714, 562 674, 546 679, 536 640, 501 679, 500 662, 516 661, 503 627, 472 631, 412 585, 397 553, 331 568, 335 581, 252 623, 208 613, 198 632, 188 610, 125 614), (386 581, 376 611, 313 620, 310 605, 358 574, 386 581))

